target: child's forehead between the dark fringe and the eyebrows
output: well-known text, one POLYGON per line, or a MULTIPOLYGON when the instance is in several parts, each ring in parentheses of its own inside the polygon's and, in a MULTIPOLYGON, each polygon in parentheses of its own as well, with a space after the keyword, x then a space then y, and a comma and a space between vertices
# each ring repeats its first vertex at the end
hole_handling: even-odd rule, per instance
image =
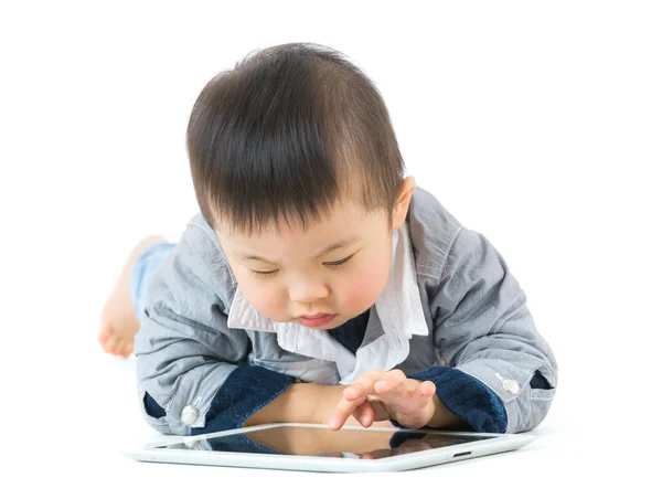
POLYGON ((318 221, 306 226, 297 221, 279 220, 252 233, 239 232, 220 222, 216 234, 226 250, 259 255, 309 254, 341 241, 360 242, 386 229, 386 211, 367 211, 355 203, 337 203, 318 221))

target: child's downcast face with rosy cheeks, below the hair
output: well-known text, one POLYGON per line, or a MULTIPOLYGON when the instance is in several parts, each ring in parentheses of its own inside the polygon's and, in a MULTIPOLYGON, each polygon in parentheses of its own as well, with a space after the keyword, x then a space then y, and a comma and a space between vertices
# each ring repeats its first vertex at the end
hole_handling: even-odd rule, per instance
POLYGON ((410 192, 394 209, 367 213, 339 203, 308 230, 281 225, 250 236, 218 224, 216 234, 246 299, 277 322, 332 329, 367 310, 391 269, 392 234, 405 220, 410 192))

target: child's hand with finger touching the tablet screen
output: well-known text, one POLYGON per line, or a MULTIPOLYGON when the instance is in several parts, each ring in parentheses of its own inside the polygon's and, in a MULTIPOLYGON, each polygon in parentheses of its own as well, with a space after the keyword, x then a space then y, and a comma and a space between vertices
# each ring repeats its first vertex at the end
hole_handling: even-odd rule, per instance
POLYGON ((329 428, 340 429, 353 415, 364 427, 395 420, 408 428, 427 425, 444 408, 431 381, 405 376, 401 370, 369 371, 343 391, 329 428))

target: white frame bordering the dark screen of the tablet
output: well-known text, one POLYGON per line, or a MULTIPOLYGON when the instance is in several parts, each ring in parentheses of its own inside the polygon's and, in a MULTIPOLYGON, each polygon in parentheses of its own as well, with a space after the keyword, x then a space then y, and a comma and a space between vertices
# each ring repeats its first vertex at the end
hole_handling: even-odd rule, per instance
MULTIPOLYGON (((321 424, 267 424, 253 426, 249 428, 232 429, 225 432, 215 432, 206 435, 206 438, 217 438, 229 435, 247 434, 252 438, 254 432, 260 432, 271 428, 284 427, 303 427, 303 428, 321 428, 327 429, 325 425, 321 424)), ((363 438, 365 432, 391 433, 388 428, 359 428, 349 427, 342 428, 340 432, 350 432, 356 438, 363 438), (363 434, 363 435, 362 435, 363 434)), ((412 431, 403 429, 408 433, 412 431)), ((429 431, 428 433, 445 433, 429 431)), ((453 432, 453 435, 477 436, 476 433, 453 432)), ((337 457, 324 457, 318 454, 259 454, 259 453, 239 453, 239 452, 217 452, 213 450, 209 444, 205 445, 205 437, 186 436, 180 437, 177 440, 163 440, 153 444, 148 444, 142 447, 131 447, 122 449, 121 453, 130 458, 149 461, 149 463, 166 463, 166 464, 182 464, 182 465, 209 465, 209 466, 232 466, 241 468, 267 468, 281 469, 293 471, 333 471, 333 473, 384 473, 384 471, 406 471, 412 469, 424 468, 428 466, 438 466, 441 464, 451 463, 453 460, 466 460, 469 458, 478 458, 493 455, 496 453, 505 453, 519 449, 535 439, 530 434, 491 434, 483 433, 482 436, 491 436, 490 439, 466 442, 462 444, 449 445, 446 447, 433 448, 426 452, 414 452, 401 454, 397 456, 383 457, 380 459, 356 459, 337 457), (184 444, 185 449, 181 448, 162 448, 164 445, 184 444), (191 448, 193 447, 193 449, 191 448), (457 454, 467 454, 467 456, 456 457, 457 454)), ((258 440, 259 442, 259 440, 258 440)), ((291 440, 290 440, 291 442, 291 440)), ((264 445, 264 444, 263 444, 264 445)), ((267 447, 270 447, 267 445, 267 447)), ((328 447, 327 447, 328 448, 328 447)), ((387 447, 386 447, 387 448, 387 447)), ((346 448, 345 448, 346 449, 346 448)), ((374 447, 366 447, 363 452, 375 450, 374 447)), ((356 456, 354 454, 354 456, 356 456)), ((356 456, 357 457, 357 456, 356 456)))

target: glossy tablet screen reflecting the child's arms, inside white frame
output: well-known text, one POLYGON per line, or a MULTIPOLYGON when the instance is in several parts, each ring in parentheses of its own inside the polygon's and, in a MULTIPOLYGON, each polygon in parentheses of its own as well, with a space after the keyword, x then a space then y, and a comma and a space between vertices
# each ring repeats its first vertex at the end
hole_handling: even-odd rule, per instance
POLYGON ((494 436, 279 426, 211 438, 200 435, 196 440, 159 448, 380 459, 490 438, 494 436))

